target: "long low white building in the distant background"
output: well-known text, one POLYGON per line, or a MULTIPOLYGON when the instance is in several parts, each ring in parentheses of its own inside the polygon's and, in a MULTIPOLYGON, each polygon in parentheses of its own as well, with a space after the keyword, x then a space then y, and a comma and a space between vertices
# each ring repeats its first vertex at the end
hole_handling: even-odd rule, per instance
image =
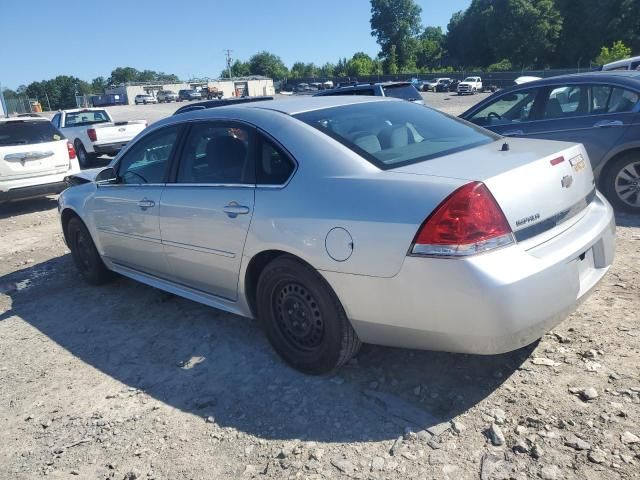
POLYGON ((223 98, 229 97, 259 97, 274 95, 273 80, 267 77, 252 76, 229 79, 219 79, 208 82, 181 82, 181 83, 130 83, 112 86, 105 90, 105 94, 122 95, 125 103, 134 104, 136 95, 150 94, 156 96, 160 90, 171 90, 178 93, 180 90, 201 90, 205 86, 222 91, 223 98))

